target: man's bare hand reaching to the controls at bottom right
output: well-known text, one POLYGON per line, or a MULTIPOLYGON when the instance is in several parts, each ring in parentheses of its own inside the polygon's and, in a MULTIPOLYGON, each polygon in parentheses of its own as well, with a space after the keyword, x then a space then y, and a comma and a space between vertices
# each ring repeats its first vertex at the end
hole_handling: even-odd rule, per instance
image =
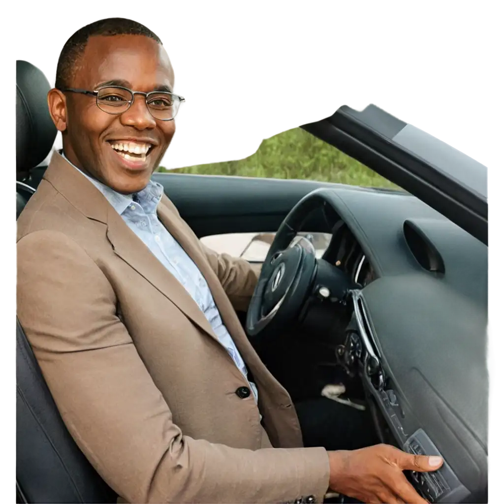
POLYGON ((430 472, 443 465, 440 457, 421 457, 388 445, 329 452, 329 487, 368 504, 424 504, 403 471, 430 472))

